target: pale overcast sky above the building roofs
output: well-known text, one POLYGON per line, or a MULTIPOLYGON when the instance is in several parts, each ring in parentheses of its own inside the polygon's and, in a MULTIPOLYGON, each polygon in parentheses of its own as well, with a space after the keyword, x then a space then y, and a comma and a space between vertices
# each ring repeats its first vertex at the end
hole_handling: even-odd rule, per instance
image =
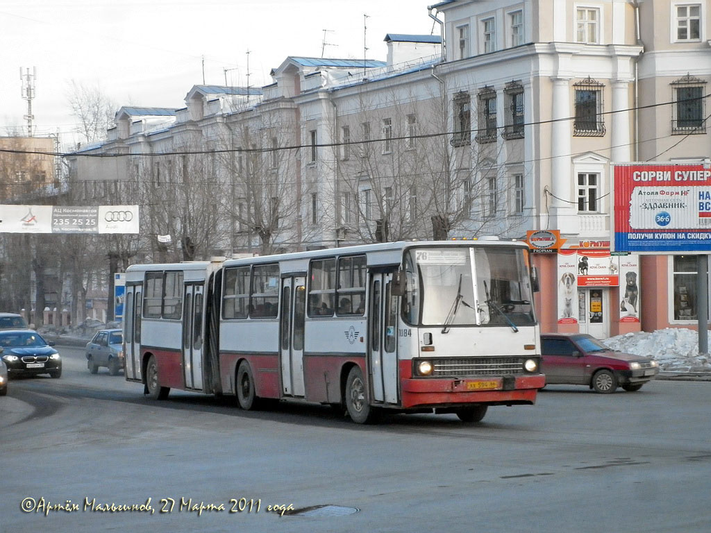
MULTIPOLYGON (((386 33, 433 31, 420 0, 0 0, 0 135, 26 131, 20 69, 37 69, 36 134, 73 143, 72 80, 119 107, 183 107, 193 85, 271 82, 289 55, 385 60, 386 33), (324 47, 324 30, 326 46, 324 47), (66 134, 65 134, 66 133, 66 134)), ((434 28, 439 34, 439 25, 434 28)), ((22 133, 24 134, 24 133, 22 133)))

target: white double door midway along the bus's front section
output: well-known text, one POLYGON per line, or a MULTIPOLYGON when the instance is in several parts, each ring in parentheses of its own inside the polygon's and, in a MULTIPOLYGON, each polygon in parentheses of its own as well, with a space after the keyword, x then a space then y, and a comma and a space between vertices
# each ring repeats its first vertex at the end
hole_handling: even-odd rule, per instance
POLYGON ((304 396, 304 316, 306 283, 303 276, 282 279, 282 308, 279 310, 279 358, 282 394, 304 396))

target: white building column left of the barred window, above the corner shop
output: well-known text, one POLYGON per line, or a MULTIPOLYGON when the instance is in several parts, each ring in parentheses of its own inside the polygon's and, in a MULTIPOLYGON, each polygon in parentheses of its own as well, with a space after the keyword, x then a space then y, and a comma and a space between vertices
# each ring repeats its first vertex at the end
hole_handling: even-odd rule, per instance
POLYGON ((570 116, 570 80, 555 78, 553 80, 552 119, 551 127, 551 183, 552 198, 550 200, 550 227, 562 230, 566 235, 579 232, 577 208, 573 203, 570 138, 572 122, 570 116))

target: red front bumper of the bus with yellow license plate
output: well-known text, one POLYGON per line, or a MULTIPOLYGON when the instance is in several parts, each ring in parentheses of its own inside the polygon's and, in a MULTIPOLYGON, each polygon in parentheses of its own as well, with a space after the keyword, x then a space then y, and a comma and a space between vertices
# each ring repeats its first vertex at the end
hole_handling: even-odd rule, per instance
POLYGON ((462 404, 534 404, 542 374, 484 378, 402 380, 402 407, 446 407, 462 404))

